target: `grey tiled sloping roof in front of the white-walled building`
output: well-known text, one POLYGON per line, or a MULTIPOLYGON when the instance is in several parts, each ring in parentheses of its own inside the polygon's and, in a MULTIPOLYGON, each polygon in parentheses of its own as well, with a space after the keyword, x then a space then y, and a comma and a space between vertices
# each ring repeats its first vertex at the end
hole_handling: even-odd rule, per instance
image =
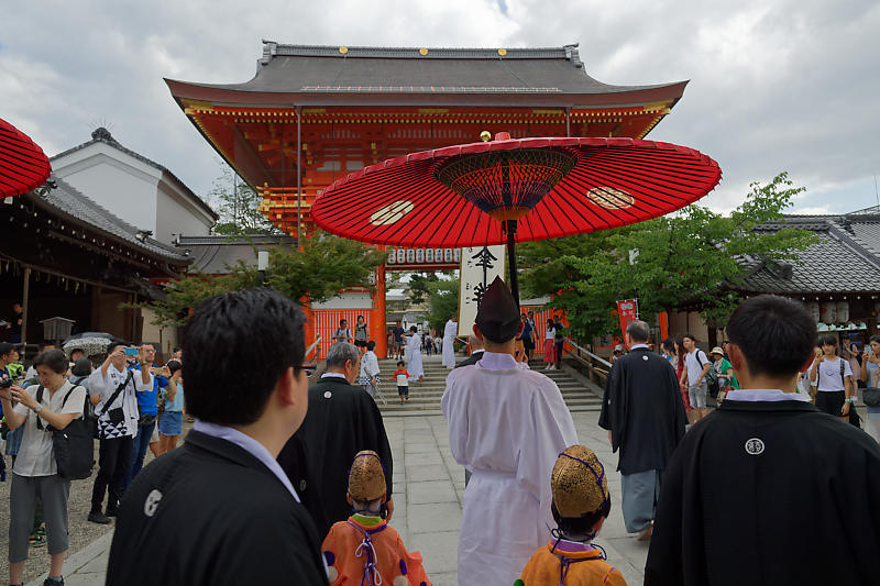
POLYGON ((73 221, 78 221, 91 228, 98 229, 111 236, 125 242, 127 245, 142 250, 153 256, 162 257, 177 265, 185 265, 190 262, 187 256, 151 237, 143 241, 138 237, 138 229, 121 218, 116 217, 107 208, 103 208, 88 196, 77 190, 74 186, 62 179, 53 178, 54 189, 37 194, 35 197, 52 206, 58 211, 70 217, 73 221))

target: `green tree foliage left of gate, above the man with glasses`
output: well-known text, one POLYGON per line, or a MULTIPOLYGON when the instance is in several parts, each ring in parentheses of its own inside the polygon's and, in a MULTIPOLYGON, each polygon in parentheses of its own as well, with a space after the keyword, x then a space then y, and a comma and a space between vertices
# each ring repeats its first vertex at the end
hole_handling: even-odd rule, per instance
MULTIPOLYGON (((326 301, 339 291, 354 287, 373 288, 371 275, 382 264, 377 250, 350 240, 318 233, 294 246, 270 250, 265 284, 297 303, 326 301)), ((220 276, 191 275, 165 286, 165 299, 142 305, 152 309, 160 325, 184 325, 196 306, 205 299, 232 290, 258 287, 262 275, 256 267, 239 262, 220 276)))

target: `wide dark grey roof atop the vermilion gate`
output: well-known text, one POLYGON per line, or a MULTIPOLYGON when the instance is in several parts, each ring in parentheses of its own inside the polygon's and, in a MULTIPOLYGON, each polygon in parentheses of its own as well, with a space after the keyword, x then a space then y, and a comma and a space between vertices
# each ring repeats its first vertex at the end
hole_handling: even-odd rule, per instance
MULTIPOLYGON (((183 84, 183 82, 174 82, 183 84)), ((340 47, 263 42, 256 75, 244 84, 186 84, 253 92, 608 95, 686 81, 613 86, 590 77, 578 45, 550 48, 340 47)))

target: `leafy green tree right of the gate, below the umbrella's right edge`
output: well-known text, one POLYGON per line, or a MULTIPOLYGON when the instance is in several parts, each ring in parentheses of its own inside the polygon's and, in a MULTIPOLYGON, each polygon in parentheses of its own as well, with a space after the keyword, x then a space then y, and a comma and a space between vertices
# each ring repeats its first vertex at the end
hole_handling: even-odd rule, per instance
POLYGON ((686 307, 722 327, 740 300, 736 286, 747 276, 746 255, 796 261, 798 251, 815 242, 804 230, 756 231, 779 220, 804 190, 792 187, 787 173, 750 189, 729 215, 692 204, 631 226, 525 245, 532 268, 522 281, 532 295, 556 295, 553 306, 566 311, 582 340, 613 331, 615 301, 634 297, 642 316, 686 307))

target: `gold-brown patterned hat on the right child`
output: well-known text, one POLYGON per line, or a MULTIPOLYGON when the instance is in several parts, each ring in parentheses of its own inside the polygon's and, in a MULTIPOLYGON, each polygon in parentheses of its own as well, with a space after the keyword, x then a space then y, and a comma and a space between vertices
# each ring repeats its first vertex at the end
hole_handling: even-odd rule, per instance
POLYGON ((569 519, 597 511, 609 498, 605 468, 583 445, 572 445, 559 454, 550 486, 557 510, 569 519))

